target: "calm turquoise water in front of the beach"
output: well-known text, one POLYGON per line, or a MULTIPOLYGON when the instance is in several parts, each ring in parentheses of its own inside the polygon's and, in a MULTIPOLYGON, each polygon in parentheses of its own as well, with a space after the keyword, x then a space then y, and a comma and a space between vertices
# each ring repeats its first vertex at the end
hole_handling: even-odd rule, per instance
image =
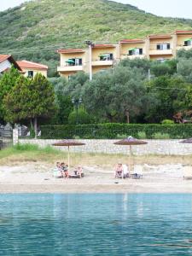
POLYGON ((0 255, 192 255, 192 195, 0 195, 0 255))

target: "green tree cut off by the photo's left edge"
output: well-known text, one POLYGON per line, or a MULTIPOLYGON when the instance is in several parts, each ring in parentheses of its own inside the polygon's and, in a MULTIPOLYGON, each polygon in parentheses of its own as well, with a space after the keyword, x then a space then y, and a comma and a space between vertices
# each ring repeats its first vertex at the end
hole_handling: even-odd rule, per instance
POLYGON ((11 67, 0 79, 0 119, 5 119, 5 109, 3 108, 3 99, 9 94, 9 91, 15 86, 20 78, 20 72, 11 67))

